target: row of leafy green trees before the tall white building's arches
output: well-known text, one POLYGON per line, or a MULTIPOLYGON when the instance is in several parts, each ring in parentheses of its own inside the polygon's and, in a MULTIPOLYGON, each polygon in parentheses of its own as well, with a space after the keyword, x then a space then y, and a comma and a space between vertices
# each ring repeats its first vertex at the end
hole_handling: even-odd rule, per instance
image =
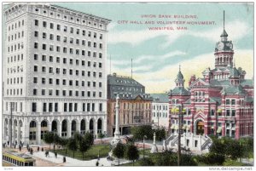
POLYGON ((73 137, 66 139, 60 137, 58 134, 54 134, 53 132, 48 132, 44 134, 44 142, 49 144, 49 149, 51 144, 61 145, 66 150, 67 156, 67 149, 73 151, 73 157, 75 151, 80 151, 83 155, 84 159, 84 152, 90 149, 90 146, 93 145, 93 134, 87 132, 84 135, 79 133, 75 133, 73 137))

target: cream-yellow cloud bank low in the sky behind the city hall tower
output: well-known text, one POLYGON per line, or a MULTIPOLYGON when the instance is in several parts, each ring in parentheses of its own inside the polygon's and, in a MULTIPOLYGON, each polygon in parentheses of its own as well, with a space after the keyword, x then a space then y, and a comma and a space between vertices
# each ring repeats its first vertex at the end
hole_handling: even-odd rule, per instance
MULTIPOLYGON (((236 59, 236 67, 241 66, 243 70, 247 71, 246 79, 251 79, 253 77, 253 50, 236 50, 234 58, 236 59)), ((214 54, 213 52, 201 54, 191 60, 183 60, 180 65, 185 79, 185 87, 188 87, 189 78, 192 75, 195 74, 196 77, 202 77, 201 72, 207 67, 214 68, 214 54)), ((131 76, 131 69, 115 68, 114 70, 119 75, 131 76)), ((147 72, 134 73, 133 77, 145 86, 146 92, 160 93, 175 87, 174 81, 177 77, 177 71, 177 65, 170 65, 163 67, 160 71, 150 69, 147 72)))

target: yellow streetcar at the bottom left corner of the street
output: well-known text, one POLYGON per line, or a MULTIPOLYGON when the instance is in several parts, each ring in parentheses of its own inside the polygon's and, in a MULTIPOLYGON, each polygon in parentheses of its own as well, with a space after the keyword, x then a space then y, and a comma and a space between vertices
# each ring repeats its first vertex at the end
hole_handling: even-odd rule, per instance
POLYGON ((34 158, 16 151, 3 152, 3 162, 8 162, 14 166, 35 166, 36 164, 34 158))

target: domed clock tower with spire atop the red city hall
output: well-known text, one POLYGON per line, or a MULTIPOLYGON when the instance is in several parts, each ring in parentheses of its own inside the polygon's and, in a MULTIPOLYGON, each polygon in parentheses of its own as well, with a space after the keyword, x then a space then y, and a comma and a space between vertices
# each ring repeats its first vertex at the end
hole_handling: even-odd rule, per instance
POLYGON ((228 33, 223 29, 221 40, 215 46, 215 68, 233 67, 233 43, 228 41, 228 33))

